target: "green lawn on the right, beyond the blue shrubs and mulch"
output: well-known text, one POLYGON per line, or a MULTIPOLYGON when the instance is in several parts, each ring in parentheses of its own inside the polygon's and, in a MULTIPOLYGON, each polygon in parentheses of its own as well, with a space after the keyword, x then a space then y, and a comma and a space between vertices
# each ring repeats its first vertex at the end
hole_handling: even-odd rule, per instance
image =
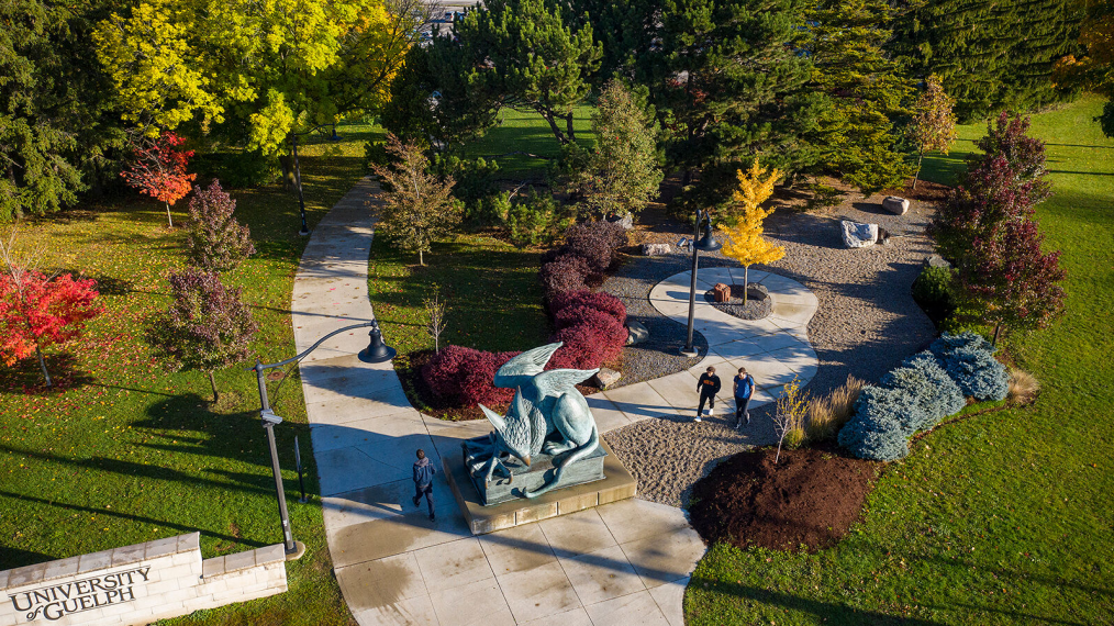
MULTIPOLYGON (((713 547, 685 597, 690 625, 1108 624, 1114 615, 1114 140, 1086 99, 1033 118, 1055 196, 1037 211, 1064 252, 1067 313, 1005 340, 1044 391, 918 441, 863 520, 818 554, 713 547)), ((960 128, 952 180, 985 124, 960 128)))

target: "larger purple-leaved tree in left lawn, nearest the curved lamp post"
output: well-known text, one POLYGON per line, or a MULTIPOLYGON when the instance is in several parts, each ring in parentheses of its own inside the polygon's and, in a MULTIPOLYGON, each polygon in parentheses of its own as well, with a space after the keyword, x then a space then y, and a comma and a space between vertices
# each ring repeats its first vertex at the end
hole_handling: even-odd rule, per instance
POLYGON ((247 356, 258 326, 241 300, 241 290, 221 283, 212 272, 186 270, 170 275, 170 307, 156 315, 147 340, 170 370, 208 374, 213 401, 221 399, 213 373, 247 356))

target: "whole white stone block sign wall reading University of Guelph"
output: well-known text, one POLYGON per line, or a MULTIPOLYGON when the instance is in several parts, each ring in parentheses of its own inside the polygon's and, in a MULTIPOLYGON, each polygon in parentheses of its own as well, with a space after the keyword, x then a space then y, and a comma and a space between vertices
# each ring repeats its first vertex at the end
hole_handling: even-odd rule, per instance
POLYGON ((0 571, 0 626, 140 625, 286 590, 282 545, 202 560, 179 535, 0 571))

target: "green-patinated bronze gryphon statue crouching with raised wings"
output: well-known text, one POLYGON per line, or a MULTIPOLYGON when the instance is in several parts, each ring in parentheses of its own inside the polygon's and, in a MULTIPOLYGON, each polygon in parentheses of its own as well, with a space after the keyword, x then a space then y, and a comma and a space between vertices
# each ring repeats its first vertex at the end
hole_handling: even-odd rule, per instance
POLYGON ((549 370, 546 363, 563 344, 550 343, 535 348, 515 356, 495 374, 495 385, 515 389, 515 400, 506 415, 480 404, 495 432, 490 447, 471 444, 469 461, 479 456, 491 454, 486 460, 487 480, 491 480, 496 469, 514 480, 501 457, 511 454, 527 466, 530 457, 539 452, 563 458, 554 459, 556 471, 553 480, 534 491, 526 491, 527 498, 545 493, 560 482, 565 468, 592 454, 599 447, 599 429, 588 409, 588 401, 577 391, 576 383, 587 380, 598 372, 595 370, 549 370))

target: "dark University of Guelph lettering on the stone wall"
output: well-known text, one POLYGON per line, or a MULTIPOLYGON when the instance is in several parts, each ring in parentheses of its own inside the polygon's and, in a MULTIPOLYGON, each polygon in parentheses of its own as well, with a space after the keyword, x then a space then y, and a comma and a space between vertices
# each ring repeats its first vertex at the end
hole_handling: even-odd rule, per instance
POLYGON ((40 617, 55 622, 75 613, 136 599, 135 585, 146 583, 148 571, 150 566, 136 567, 8 597, 28 622, 40 617))

